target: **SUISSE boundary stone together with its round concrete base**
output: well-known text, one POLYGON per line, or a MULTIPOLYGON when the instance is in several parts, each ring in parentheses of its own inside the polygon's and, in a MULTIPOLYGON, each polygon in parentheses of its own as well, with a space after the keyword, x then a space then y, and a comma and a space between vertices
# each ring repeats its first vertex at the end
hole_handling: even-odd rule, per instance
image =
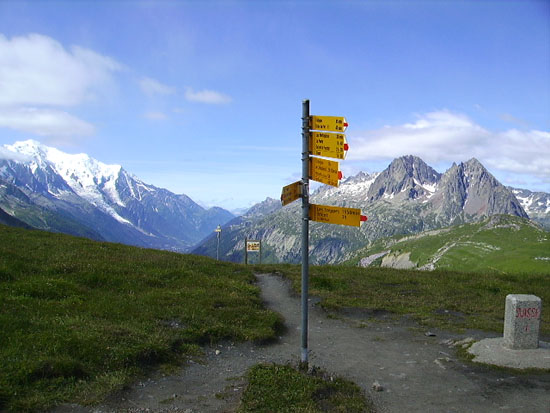
POLYGON ((542 300, 529 294, 508 294, 504 337, 474 343, 468 352, 474 362, 516 369, 549 369, 550 344, 539 341, 542 300))

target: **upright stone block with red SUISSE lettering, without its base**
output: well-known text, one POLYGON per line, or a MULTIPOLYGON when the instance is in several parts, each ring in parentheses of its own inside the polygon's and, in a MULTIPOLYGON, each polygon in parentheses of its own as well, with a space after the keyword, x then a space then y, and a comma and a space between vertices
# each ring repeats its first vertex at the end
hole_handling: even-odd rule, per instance
POLYGON ((504 342, 512 350, 536 349, 542 301, 535 295, 508 294, 504 311, 504 342))

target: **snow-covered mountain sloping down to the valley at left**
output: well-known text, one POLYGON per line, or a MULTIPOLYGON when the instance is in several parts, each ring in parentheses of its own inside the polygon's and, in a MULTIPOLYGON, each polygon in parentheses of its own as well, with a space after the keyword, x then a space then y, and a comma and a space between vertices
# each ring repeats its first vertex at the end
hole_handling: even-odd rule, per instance
POLYGON ((234 217, 86 154, 32 140, 3 149, 0 208, 36 228, 184 251, 234 217))

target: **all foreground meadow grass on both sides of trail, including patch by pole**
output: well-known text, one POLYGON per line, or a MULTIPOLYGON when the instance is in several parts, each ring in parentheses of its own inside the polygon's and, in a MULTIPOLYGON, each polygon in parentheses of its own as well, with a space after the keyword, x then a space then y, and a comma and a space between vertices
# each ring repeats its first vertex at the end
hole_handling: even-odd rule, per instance
MULTIPOLYGON (((244 266, 0 226, 0 409, 94 404, 153 369, 200 357, 202 345, 273 339, 283 320, 264 308, 254 272, 284 275, 300 290, 299 265, 244 266)), ((548 303, 549 277, 311 266, 310 294, 336 314, 383 310, 427 327, 501 332, 506 295, 535 294, 548 303)), ((288 366, 256 366, 248 380, 242 412, 269 411, 261 406, 283 400, 304 412, 369 411, 352 384, 334 387, 288 366)))

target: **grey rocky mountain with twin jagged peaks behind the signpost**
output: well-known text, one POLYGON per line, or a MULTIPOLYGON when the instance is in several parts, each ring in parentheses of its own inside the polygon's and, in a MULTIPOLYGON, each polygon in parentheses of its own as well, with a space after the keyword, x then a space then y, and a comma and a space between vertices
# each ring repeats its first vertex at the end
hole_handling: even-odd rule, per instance
MULTIPOLYGON (((415 156, 393 160, 380 173, 360 172, 339 187, 322 186, 312 203, 360 208, 368 221, 360 229, 310 223, 312 263, 335 263, 358 248, 396 234, 478 222, 495 214, 527 218, 512 191, 498 182, 476 159, 453 164, 440 174, 415 156)), ((294 202, 267 215, 246 214, 224 228, 220 254, 242 260, 243 240, 262 240, 266 262, 299 262, 301 204, 294 202), (222 248, 223 247, 223 248, 222 248)), ((214 239, 194 252, 212 255, 214 239)))

